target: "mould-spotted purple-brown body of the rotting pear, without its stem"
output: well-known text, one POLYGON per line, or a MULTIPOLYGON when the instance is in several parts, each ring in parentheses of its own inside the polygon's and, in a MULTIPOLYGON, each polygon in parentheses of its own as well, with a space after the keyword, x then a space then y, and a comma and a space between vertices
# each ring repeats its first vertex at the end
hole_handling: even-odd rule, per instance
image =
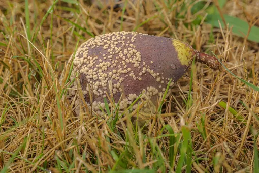
MULTIPOLYGON (((185 62, 185 64, 183 65, 183 62, 181 59, 179 59, 178 55, 179 47, 176 50, 172 42, 173 39, 171 38, 151 36, 135 32, 116 32, 96 36, 95 39, 90 39, 82 44, 75 54, 74 72, 79 73, 79 81, 82 90, 85 91, 84 96, 86 102, 88 104, 90 103, 89 88, 87 87, 88 84, 95 85, 94 87, 96 90, 93 92, 95 94, 92 95, 92 100, 96 103, 94 109, 98 110, 100 104, 102 104, 101 107, 103 107, 103 100, 106 95, 105 91, 108 92, 108 95, 110 95, 108 81, 111 80, 111 76, 108 75, 106 78, 102 76, 104 76, 104 74, 109 74, 109 72, 112 72, 113 70, 117 71, 117 73, 115 73, 115 75, 117 75, 120 68, 121 70, 131 68, 131 70, 127 73, 119 74, 119 79, 123 78, 123 81, 120 81, 118 78, 112 79, 113 84, 119 83, 119 87, 115 87, 117 92, 113 92, 113 99, 115 103, 119 101, 123 91, 124 96, 122 97, 122 99, 126 98, 126 100, 124 100, 126 105, 131 104, 132 101, 136 99, 136 97, 143 93, 144 89, 147 91, 144 92, 144 94, 147 94, 149 96, 148 99, 155 102, 167 88, 170 78, 172 78, 172 83, 177 81, 189 68, 189 65, 191 64, 193 59, 193 55, 198 56, 200 53, 192 49, 189 45, 178 42, 179 45, 182 46, 180 48, 184 48, 184 51, 188 50, 187 54, 190 54, 189 57, 184 57, 187 61, 187 64, 185 62), (110 38, 110 40, 108 40, 108 38, 110 38), (111 50, 112 47, 113 49, 111 50), (119 53, 118 51, 116 53, 116 50, 118 50, 120 47, 121 50, 119 52, 122 53, 123 56, 120 54, 120 57, 116 59, 116 57, 119 56, 119 53), (135 52, 137 51, 137 53, 128 56, 130 51, 125 51, 125 49, 129 48, 134 49, 135 52), (132 60, 132 62, 125 62, 127 59, 133 59, 134 55, 135 57, 139 56, 137 55, 138 53, 140 53, 141 55, 141 61, 132 60), (112 55, 112 58, 109 59, 108 57, 110 55, 112 55), (93 61, 95 63, 92 63, 89 68, 86 68, 85 66, 89 64, 90 58, 94 57, 97 58, 95 61, 93 61), (104 57, 106 57, 106 59, 104 57), (127 65, 126 68, 124 68, 124 65, 122 65, 123 58, 124 63, 126 63, 127 65), (84 61, 85 59, 89 59, 88 64, 86 61, 84 61), (118 62, 114 63, 114 61, 116 60, 118 62), (84 62, 82 63, 82 61, 84 62), (103 62, 109 62, 110 66, 108 67, 107 65, 107 67, 104 67, 102 65, 103 62), (114 64, 116 64, 116 66, 113 66, 114 64), (137 66, 139 65, 139 67, 136 67, 136 64, 137 66), (83 67, 85 67, 86 70, 82 70, 83 67), (94 75, 89 74, 89 72, 95 68, 98 69, 98 71, 95 71, 95 74, 98 75, 98 78, 96 78, 96 76, 95 78, 91 77, 94 75), (149 70, 141 75, 143 69, 145 68, 149 70), (103 71, 99 71, 100 69, 101 71, 103 69, 103 71), (135 77, 130 75, 132 71, 135 77), (103 86, 99 84, 99 86, 96 87, 96 82, 102 83, 103 86), (136 95, 133 98, 130 98, 130 94, 136 95)), ((71 79, 72 78, 73 76, 71 77, 71 79)), ((76 88, 75 85, 76 83, 74 83, 74 88, 76 88)), ((73 93, 69 92, 69 97, 72 98, 73 93)))

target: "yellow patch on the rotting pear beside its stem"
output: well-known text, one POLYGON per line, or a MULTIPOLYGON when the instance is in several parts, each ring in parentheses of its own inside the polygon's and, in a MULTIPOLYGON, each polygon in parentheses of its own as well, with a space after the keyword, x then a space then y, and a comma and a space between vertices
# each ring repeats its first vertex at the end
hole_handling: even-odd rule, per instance
POLYGON ((178 59, 180 60, 181 64, 188 66, 189 62, 192 61, 193 49, 185 43, 175 39, 172 40, 172 44, 177 51, 178 59))

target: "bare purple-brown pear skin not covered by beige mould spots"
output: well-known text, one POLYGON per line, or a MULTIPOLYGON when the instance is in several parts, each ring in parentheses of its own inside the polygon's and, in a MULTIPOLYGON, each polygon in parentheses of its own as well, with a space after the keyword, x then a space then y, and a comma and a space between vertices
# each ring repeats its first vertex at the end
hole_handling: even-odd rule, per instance
MULTIPOLYGON (((139 52, 141 52, 141 59, 143 59, 146 62, 147 66, 150 66, 150 69, 155 71, 156 73, 164 74, 165 78, 170 79, 172 77, 172 81, 177 81, 186 71, 186 69, 189 66, 181 65, 180 61, 177 59, 177 52, 175 51, 174 46, 172 45, 172 39, 170 38, 164 38, 164 37, 156 37, 156 36, 150 36, 145 35, 142 36, 142 39, 140 39, 137 36, 137 40, 141 40, 141 42, 136 41, 134 45, 138 49, 139 52), (168 58, 170 57, 170 59, 168 58), (151 64, 150 62, 153 61, 151 64), (174 64, 175 69, 172 69, 170 65, 174 64)), ((120 47, 121 44, 118 45, 120 47)), ((122 49, 123 50, 123 49, 122 49)), ((103 59, 102 48, 95 48, 89 51, 89 56, 98 56, 99 59, 105 61, 103 59), (100 53, 101 52, 101 53, 100 53)), ((138 69, 134 67, 133 64, 130 66, 127 66, 127 68, 130 67, 131 69, 134 69, 134 74, 139 74, 142 72, 142 68, 138 69)), ((109 69, 109 68, 108 68, 109 69)), ((118 70, 119 68, 113 68, 118 70)), ((157 82, 154 77, 147 74, 149 77, 142 77, 142 80, 139 81, 138 79, 134 80, 132 77, 128 76, 125 77, 123 81, 124 86, 124 94, 128 95, 131 93, 140 94, 141 91, 147 86, 153 86, 155 88, 159 88, 159 85, 161 83, 157 82)), ((143 75, 142 75, 143 76, 143 75)), ((146 76, 146 75, 145 75, 146 76)), ((87 82, 85 74, 81 75, 81 86, 82 89, 86 88, 87 82)), ((115 82, 115 81, 114 81, 115 82)), ((164 88, 166 87, 167 83, 165 82, 163 84, 164 88)), ((115 102, 119 100, 121 96, 121 93, 116 93, 113 95, 113 98, 115 99, 115 102)), ((89 102, 89 98, 86 97, 87 102, 89 102)), ((103 101, 103 97, 93 97, 93 100, 96 101, 103 101)))

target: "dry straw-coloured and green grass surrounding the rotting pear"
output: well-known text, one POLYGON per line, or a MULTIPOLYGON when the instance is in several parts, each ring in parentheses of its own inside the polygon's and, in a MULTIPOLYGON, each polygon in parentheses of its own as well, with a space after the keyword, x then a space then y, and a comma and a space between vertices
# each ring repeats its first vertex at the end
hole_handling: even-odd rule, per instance
POLYGON ((1 173, 259 172, 256 3, 1 1, 1 173), (139 96, 122 114, 107 98, 104 116, 84 102, 76 116, 64 97, 74 82, 67 60, 91 37, 120 30, 180 39, 215 53, 222 68, 193 62, 155 114, 132 110, 139 96))

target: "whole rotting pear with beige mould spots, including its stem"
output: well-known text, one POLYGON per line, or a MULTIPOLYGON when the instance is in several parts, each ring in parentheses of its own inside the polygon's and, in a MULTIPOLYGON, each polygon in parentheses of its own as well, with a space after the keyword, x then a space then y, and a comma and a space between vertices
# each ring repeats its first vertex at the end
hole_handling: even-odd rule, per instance
MULTIPOLYGON (((123 109, 141 93, 144 100, 155 103, 170 78, 172 86, 188 70, 193 57, 214 70, 219 68, 215 57, 181 41, 136 32, 114 32, 91 38, 78 48, 70 79, 78 74, 85 101, 93 111, 100 113, 100 107, 105 108, 104 98, 111 93, 115 103, 121 98, 120 109, 123 109)), ((75 89, 76 81, 68 98, 74 98, 75 89)), ((79 100, 75 105, 78 103, 79 100)), ((148 109, 144 107, 144 111, 148 109)))

